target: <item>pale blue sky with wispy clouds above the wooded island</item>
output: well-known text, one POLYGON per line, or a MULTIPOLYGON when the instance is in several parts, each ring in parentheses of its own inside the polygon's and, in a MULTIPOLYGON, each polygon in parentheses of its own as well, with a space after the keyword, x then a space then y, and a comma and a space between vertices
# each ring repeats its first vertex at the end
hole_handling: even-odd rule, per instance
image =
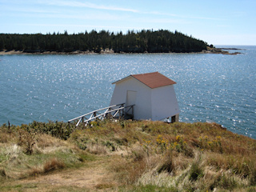
POLYGON ((178 30, 213 45, 256 45, 255 0, 0 0, 0 33, 178 30))

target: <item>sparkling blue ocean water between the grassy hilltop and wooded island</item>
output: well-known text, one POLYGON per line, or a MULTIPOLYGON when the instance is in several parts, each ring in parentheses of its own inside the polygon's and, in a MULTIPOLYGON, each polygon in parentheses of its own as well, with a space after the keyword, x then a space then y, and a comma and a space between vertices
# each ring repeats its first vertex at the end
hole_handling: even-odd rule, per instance
POLYGON ((256 138, 256 46, 234 47, 242 54, 0 55, 0 124, 67 122, 109 106, 112 82, 158 71, 177 82, 181 122, 256 138))

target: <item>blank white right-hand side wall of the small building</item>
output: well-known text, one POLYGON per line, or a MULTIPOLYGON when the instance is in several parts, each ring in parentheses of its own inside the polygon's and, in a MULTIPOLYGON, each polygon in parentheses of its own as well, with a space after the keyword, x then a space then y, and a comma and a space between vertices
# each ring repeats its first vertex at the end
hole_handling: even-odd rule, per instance
POLYGON ((152 89, 151 105, 153 121, 180 113, 173 85, 152 89))

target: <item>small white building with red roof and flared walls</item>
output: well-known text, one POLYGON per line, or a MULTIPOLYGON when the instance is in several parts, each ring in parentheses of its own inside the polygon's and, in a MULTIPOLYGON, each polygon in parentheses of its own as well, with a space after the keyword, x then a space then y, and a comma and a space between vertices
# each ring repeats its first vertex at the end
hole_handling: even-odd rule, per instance
POLYGON ((153 121, 171 118, 178 122, 180 110, 174 91, 174 82, 166 76, 154 72, 149 74, 131 74, 115 84, 110 106, 126 103, 134 106, 134 119, 153 121))

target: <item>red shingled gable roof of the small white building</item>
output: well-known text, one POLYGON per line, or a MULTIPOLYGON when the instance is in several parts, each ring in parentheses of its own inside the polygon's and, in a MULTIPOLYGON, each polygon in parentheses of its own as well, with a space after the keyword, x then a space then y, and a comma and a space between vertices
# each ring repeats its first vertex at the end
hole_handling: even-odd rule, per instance
MULTIPOLYGON (((170 86, 176 84, 173 80, 170 78, 167 78, 163 74, 160 74, 158 72, 149 73, 149 74, 131 74, 130 76, 126 77, 133 77, 136 78, 138 81, 142 82, 146 86, 149 86, 151 89, 160 87, 160 86, 170 86)), ((125 78, 122 78, 119 81, 124 80, 125 78)), ((117 82, 119 82, 117 81, 117 82)), ((114 82, 116 83, 116 82, 114 82)))

